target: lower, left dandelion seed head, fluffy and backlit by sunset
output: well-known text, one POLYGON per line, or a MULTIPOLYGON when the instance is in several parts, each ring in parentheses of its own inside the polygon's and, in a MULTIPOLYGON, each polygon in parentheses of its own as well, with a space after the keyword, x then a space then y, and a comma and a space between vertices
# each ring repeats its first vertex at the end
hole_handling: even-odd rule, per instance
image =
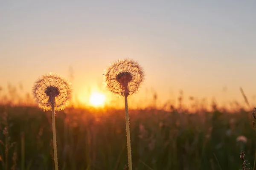
POLYGON ((54 105, 54 110, 59 111, 69 105, 72 90, 67 79, 57 74, 49 73, 39 77, 33 87, 33 94, 38 102, 38 107, 49 111, 54 105))

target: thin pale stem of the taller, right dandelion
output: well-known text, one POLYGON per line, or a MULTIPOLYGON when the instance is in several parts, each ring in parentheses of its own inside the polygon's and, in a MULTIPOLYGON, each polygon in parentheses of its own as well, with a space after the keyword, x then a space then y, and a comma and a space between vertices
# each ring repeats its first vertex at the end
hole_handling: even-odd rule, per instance
POLYGON ((131 137, 130 137, 130 127, 129 127, 130 123, 129 123, 127 96, 128 95, 125 95, 125 121, 126 121, 126 136, 127 136, 127 150, 128 150, 128 166, 129 166, 129 170, 132 170, 131 137))

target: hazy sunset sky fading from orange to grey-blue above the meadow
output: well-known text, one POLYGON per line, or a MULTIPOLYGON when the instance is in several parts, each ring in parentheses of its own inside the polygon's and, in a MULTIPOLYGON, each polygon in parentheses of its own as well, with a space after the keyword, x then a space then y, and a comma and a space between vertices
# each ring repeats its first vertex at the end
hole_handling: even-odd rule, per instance
MULTIPOLYGON (((250 103, 256 95, 255 0, 0 2, 0 85, 31 88, 38 76, 70 78, 86 103, 105 68, 131 58, 145 71, 143 104, 185 96, 250 103), (70 78, 71 79, 71 78, 70 78), (224 91, 223 89, 227 89, 224 91)), ((110 100, 109 100, 110 101, 110 100)))

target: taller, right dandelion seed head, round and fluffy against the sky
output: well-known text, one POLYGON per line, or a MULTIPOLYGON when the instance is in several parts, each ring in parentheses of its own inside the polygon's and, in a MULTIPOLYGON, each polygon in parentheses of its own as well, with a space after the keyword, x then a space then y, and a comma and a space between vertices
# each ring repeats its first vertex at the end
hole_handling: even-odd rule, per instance
POLYGON ((113 62, 104 75, 108 90, 121 96, 137 92, 144 80, 143 69, 132 59, 119 59, 113 62))

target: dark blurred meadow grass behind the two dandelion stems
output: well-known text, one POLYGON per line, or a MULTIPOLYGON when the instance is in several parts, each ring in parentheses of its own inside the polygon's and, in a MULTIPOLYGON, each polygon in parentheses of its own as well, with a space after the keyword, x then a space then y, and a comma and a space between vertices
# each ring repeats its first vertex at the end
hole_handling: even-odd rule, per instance
MULTIPOLYGON (((238 170, 241 150, 253 167, 256 135, 251 113, 243 109, 191 114, 151 108, 129 114, 135 170, 238 170), (246 143, 236 141, 241 135, 246 143)), ((128 164, 124 110, 67 108, 57 112, 56 130, 60 170, 123 170, 128 164)), ((0 170, 6 144, 12 170, 53 169, 50 112, 0 106, 0 140, 0 170)))

